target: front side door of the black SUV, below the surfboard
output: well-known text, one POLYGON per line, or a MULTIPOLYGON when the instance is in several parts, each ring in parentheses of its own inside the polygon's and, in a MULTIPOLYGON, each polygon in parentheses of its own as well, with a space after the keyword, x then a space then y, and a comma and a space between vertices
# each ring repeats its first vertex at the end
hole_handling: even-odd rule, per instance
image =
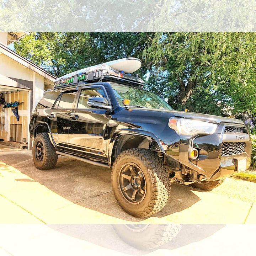
MULTIPOLYGON (((69 144, 77 154, 106 160, 109 114, 107 110, 87 105, 91 97, 104 97, 107 91, 102 85, 81 88, 74 110, 70 114, 69 144)), ((109 101, 110 102, 110 101, 109 101)))

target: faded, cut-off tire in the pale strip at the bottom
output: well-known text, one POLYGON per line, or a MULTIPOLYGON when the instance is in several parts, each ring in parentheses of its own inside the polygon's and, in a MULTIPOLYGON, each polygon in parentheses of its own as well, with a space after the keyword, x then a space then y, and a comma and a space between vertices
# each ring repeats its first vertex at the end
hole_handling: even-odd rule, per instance
POLYGON ((115 224, 113 228, 128 245, 140 250, 152 250, 174 239, 180 232, 181 224, 115 224), (133 231, 129 226, 142 226, 142 231, 133 231))

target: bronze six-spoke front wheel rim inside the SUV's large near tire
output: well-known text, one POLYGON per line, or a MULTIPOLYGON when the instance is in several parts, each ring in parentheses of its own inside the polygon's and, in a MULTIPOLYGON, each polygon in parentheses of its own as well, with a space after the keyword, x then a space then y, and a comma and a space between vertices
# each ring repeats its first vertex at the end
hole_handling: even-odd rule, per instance
POLYGON ((146 194, 143 171, 132 162, 124 164, 119 172, 119 189, 123 197, 132 204, 139 204, 146 194))

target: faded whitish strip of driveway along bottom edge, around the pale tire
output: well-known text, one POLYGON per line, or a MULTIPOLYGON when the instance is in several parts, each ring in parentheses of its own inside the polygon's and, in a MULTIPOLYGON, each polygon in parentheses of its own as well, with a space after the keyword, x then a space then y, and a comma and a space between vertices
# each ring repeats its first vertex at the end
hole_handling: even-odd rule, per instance
POLYGON ((215 256, 218 251, 220 255, 241 256, 253 255, 255 250, 255 225, 183 224, 173 239, 165 239, 151 250, 135 247, 135 237, 131 241, 120 235, 117 226, 123 225, 0 224, 0 255, 215 256))

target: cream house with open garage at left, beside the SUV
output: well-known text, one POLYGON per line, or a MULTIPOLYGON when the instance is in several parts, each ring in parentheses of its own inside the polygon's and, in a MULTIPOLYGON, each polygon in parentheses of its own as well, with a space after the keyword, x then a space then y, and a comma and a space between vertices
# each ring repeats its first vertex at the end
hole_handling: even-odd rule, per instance
POLYGON ((31 111, 43 96, 43 91, 53 87, 57 77, 8 48, 23 36, 26 36, 25 32, 0 32, 0 96, 7 103, 20 103, 18 118, 12 111, 15 108, 4 108, 1 104, 0 140, 31 149, 31 111))

